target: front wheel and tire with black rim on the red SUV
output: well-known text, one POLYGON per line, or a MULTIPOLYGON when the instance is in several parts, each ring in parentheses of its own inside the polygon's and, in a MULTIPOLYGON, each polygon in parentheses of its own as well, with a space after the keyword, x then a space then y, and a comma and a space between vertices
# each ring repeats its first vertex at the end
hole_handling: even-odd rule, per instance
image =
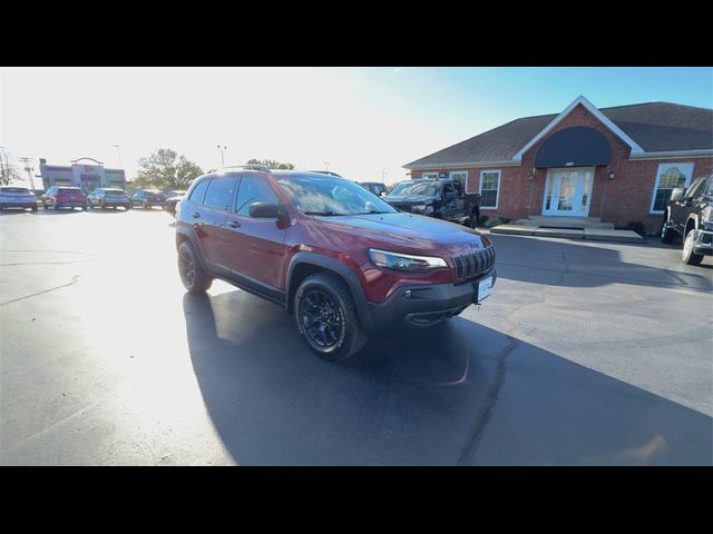
POLYGON ((307 276, 294 297, 297 332, 323 359, 341 362, 367 343, 346 284, 331 273, 307 276))

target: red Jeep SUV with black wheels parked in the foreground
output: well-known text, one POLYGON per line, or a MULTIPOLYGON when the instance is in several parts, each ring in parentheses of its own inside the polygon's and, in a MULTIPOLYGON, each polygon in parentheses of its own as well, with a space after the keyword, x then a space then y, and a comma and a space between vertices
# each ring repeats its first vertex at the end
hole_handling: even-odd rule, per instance
POLYGON ((378 329, 456 316, 497 278, 486 236, 310 171, 243 167, 196 178, 177 207, 176 248, 188 291, 221 278, 280 304, 330 360, 378 329))

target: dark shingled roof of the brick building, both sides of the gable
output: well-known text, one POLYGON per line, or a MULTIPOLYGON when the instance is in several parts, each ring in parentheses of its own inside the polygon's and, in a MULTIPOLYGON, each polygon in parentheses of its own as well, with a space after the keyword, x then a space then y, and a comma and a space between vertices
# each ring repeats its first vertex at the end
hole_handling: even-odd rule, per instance
MULTIPOLYGON (((599 111, 646 152, 713 150, 713 109, 648 102, 599 111)), ((553 113, 516 119, 403 167, 506 161, 557 117, 553 113)))

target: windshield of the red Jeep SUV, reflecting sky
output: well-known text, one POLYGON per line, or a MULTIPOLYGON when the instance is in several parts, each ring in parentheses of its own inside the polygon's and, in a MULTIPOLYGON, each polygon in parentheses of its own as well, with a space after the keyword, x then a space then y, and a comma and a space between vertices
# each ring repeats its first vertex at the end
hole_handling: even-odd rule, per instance
POLYGON ((305 215, 395 214, 397 210, 360 185, 329 175, 284 176, 277 184, 305 215))

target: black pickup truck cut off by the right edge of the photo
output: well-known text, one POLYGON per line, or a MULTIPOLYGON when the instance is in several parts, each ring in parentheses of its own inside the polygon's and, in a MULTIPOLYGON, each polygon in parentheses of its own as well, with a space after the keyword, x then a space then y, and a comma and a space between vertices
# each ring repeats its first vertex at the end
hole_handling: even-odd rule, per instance
POLYGON ((676 188, 666 205, 661 225, 661 240, 683 238, 682 259, 699 265, 703 256, 713 255, 713 175, 701 177, 687 189, 676 188))

